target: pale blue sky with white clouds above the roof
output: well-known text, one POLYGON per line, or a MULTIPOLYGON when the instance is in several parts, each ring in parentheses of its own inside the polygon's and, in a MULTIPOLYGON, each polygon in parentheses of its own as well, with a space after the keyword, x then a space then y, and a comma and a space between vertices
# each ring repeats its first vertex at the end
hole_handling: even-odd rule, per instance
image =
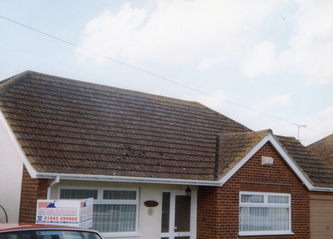
POLYGON ((197 101, 305 146, 333 133, 331 0, 0 0, 26 70, 197 101))

